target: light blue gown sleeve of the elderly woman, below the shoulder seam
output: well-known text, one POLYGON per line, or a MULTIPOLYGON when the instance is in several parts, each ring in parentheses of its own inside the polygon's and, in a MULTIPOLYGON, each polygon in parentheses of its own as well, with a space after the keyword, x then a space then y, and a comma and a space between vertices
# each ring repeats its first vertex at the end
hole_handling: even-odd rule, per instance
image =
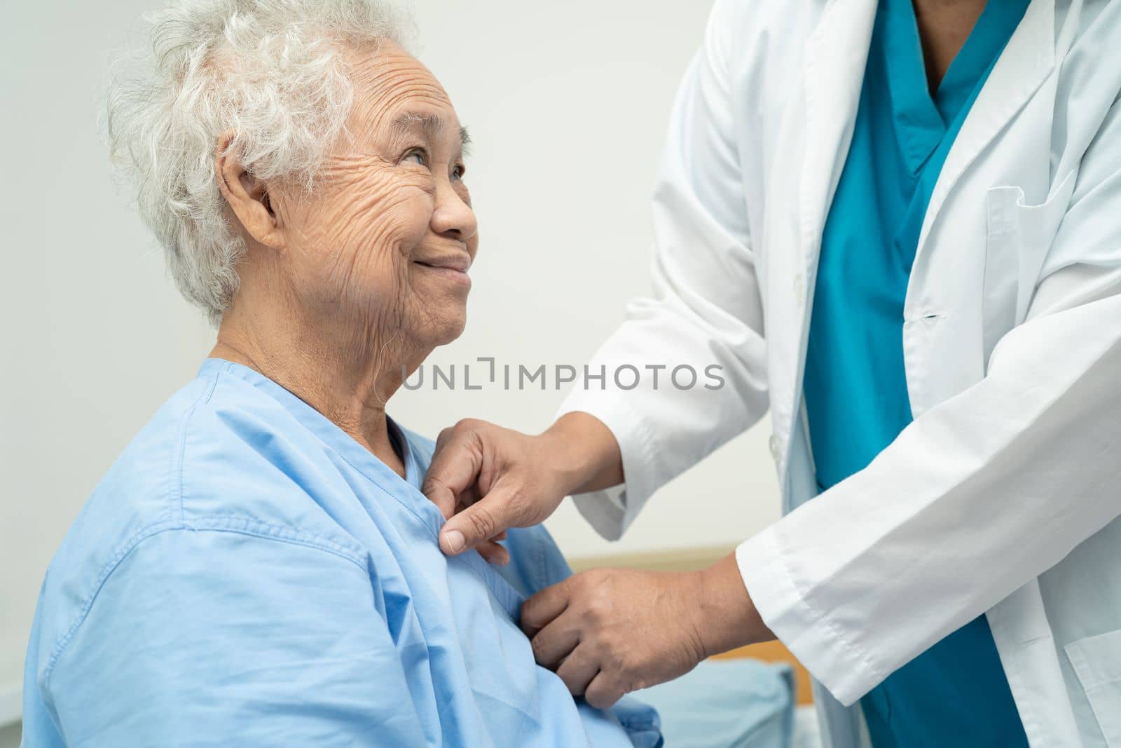
POLYGON ((141 541, 40 687, 68 745, 428 745, 368 573, 289 530, 141 541))

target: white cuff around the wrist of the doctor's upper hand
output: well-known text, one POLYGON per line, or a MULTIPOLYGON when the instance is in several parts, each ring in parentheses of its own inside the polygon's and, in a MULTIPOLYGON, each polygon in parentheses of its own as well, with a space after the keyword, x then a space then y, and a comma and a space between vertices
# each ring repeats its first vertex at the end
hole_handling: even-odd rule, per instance
POLYGON ((618 393, 575 389, 560 406, 557 418, 577 412, 594 416, 611 431, 622 454, 626 482, 575 495, 573 502, 604 539, 618 541, 660 484, 651 469, 657 464, 654 440, 642 418, 618 393))

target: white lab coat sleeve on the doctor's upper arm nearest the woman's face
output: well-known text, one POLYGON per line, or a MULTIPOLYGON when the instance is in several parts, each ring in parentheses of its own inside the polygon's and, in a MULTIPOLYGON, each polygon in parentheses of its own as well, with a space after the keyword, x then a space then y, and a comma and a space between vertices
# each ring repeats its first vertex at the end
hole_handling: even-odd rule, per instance
POLYGON ((767 409, 762 308, 729 102, 728 6, 716 3, 670 116, 654 195, 654 295, 628 305, 587 364, 603 379, 577 384, 560 408, 595 416, 619 442, 626 484, 575 497, 609 539, 659 487, 767 409))

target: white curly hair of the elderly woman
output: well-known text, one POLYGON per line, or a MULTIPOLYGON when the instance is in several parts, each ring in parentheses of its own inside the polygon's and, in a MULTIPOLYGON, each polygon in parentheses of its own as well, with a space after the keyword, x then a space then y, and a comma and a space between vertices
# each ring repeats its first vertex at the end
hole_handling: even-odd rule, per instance
POLYGON ((407 46, 411 27, 386 0, 178 0, 147 20, 148 72, 110 86, 110 148, 177 287, 217 324, 245 251, 219 192, 219 137, 233 131, 256 177, 312 188, 350 114, 346 46, 407 46))

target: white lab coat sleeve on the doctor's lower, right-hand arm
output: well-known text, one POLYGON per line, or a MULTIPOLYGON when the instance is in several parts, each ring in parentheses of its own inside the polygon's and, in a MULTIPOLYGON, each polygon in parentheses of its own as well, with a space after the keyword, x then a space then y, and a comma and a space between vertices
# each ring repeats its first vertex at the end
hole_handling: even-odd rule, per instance
POLYGON ((763 620, 844 704, 1121 515, 1118 110, 986 376, 736 551, 763 620))

